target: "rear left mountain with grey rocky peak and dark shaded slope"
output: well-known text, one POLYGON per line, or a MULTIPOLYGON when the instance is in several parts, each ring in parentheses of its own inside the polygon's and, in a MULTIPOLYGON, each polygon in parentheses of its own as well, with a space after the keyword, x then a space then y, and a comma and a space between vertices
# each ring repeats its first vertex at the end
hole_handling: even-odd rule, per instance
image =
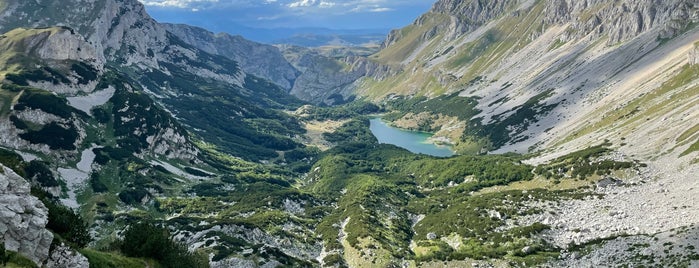
POLYGON ((56 2, 8 2, 1 29, 18 25, 63 25, 75 29, 95 47, 97 57, 103 58, 109 67, 135 80, 143 90, 155 96, 163 108, 191 126, 191 131, 201 130, 198 135, 217 136, 211 141, 229 153, 270 158, 277 155, 276 150, 293 149, 299 145, 289 138, 301 131, 298 124, 283 112, 265 110, 270 107, 293 108, 301 103, 286 95, 283 89, 246 74, 237 62, 185 44, 148 17, 139 3, 65 4, 67 6, 56 2), (70 6, 73 4, 75 6, 70 6), (65 8, 74 8, 76 12, 67 15, 51 13, 65 8), (22 16, 43 19, 24 25, 27 23, 22 16), (253 94, 255 97, 251 97, 253 94), (214 95, 219 98, 208 97, 214 95), (202 109, 212 105, 225 108, 202 109), (255 119, 250 119, 252 117, 255 119), (284 127, 277 128, 263 122, 272 118, 284 122, 284 127), (239 130, 230 131, 230 124, 239 125, 239 130), (203 131, 204 125, 207 131, 203 131), (208 126, 218 127, 212 129, 208 126), (265 134, 256 133, 254 129, 263 129, 265 134), (230 141, 239 142, 233 144, 230 141))

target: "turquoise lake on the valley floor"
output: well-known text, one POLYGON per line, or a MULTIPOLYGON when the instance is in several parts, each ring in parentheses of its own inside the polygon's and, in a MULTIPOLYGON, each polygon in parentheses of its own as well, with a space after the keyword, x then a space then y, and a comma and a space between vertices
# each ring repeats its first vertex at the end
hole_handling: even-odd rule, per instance
POLYGON ((454 155, 454 152, 449 146, 436 145, 428 142, 427 139, 432 137, 430 133, 391 127, 381 120, 381 118, 373 118, 370 122, 371 125, 369 129, 376 139, 379 140, 379 143, 393 144, 418 154, 441 157, 454 155))

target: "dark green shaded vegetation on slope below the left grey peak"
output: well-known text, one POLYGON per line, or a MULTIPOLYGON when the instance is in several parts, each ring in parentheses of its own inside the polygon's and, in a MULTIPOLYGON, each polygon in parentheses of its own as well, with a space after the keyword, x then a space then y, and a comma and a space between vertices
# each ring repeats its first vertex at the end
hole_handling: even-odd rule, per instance
POLYGON ((232 76, 238 75, 239 68, 232 60, 199 50, 200 61, 193 62, 180 55, 175 46, 189 45, 176 37, 169 38, 173 45, 166 47, 165 52, 171 52, 177 64, 161 64, 170 74, 158 70, 127 72, 155 94, 172 95, 174 92, 175 96, 160 101, 189 127, 189 131, 223 152, 252 161, 275 158, 277 151, 303 147, 292 139, 303 134, 303 128, 295 118, 282 111, 298 108, 303 104, 300 100, 251 75, 246 75, 240 86, 195 75, 184 66, 207 68, 208 65, 202 65, 205 62, 218 66, 215 72, 232 76))

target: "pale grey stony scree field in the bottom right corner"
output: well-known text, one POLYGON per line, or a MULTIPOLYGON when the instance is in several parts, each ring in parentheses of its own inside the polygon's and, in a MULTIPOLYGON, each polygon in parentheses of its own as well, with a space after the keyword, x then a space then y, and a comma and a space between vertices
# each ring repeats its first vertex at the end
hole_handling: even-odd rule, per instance
POLYGON ((544 213, 521 221, 551 226, 544 238, 565 249, 552 267, 699 267, 699 165, 688 159, 651 161, 620 184, 597 185, 600 195, 533 203, 544 213))

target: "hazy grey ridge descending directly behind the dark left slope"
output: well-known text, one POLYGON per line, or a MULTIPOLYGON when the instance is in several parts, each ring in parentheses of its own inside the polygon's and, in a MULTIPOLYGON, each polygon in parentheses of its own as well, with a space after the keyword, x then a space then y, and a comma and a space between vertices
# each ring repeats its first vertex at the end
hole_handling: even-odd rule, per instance
POLYGON ((165 23, 162 26, 182 41, 208 53, 228 57, 238 62, 245 72, 268 79, 286 90, 291 89, 298 76, 298 71, 274 46, 226 33, 214 34, 184 24, 165 23))

